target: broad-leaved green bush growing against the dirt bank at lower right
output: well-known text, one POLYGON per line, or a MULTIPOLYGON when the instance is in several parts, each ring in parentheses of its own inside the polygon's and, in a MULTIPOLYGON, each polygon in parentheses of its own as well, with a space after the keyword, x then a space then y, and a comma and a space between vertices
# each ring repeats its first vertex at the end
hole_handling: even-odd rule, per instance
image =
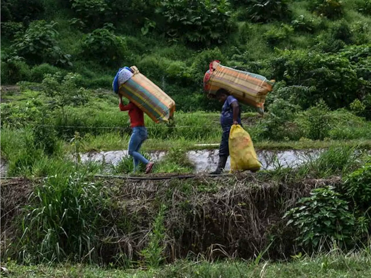
POLYGON ((289 219, 287 225, 298 229, 296 240, 312 248, 317 248, 324 239, 346 244, 354 233, 355 217, 332 187, 313 189, 311 196, 302 198, 284 218, 289 219))

